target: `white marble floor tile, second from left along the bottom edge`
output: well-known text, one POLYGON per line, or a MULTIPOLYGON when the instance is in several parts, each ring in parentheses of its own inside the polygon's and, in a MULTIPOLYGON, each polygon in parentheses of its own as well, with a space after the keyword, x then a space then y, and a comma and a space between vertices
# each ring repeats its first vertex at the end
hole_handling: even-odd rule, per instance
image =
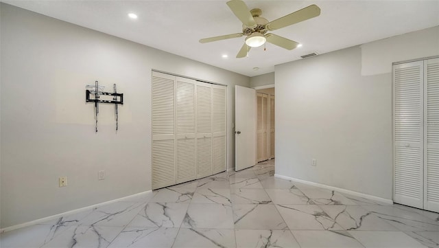
POLYGON ((123 227, 74 226, 56 236, 43 248, 93 247, 105 248, 122 231, 123 227))

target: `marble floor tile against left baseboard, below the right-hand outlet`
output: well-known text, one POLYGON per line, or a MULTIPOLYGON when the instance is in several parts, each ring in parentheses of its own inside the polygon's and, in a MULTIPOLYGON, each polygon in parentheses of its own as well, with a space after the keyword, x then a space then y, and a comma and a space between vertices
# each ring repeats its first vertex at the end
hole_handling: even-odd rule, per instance
POLYGON ((145 203, 119 201, 97 207, 80 221, 80 225, 123 226, 145 206, 145 203))

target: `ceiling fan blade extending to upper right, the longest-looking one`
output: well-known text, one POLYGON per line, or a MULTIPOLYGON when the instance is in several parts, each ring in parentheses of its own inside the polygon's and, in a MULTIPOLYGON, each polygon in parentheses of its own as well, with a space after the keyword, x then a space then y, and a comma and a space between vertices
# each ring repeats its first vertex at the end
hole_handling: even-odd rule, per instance
POLYGON ((302 8, 302 10, 298 10, 274 21, 270 21, 270 23, 265 25, 265 28, 268 30, 278 30, 279 28, 287 27, 289 25, 293 25, 294 23, 300 23, 300 21, 305 21, 319 15, 320 8, 313 4, 306 8, 302 8))

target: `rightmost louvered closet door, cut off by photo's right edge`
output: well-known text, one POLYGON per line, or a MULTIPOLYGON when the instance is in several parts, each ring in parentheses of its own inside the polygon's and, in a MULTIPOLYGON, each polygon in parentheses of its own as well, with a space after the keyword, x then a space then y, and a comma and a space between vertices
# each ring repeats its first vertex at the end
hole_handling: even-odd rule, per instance
POLYGON ((439 212, 439 58, 424 61, 424 209, 439 212))

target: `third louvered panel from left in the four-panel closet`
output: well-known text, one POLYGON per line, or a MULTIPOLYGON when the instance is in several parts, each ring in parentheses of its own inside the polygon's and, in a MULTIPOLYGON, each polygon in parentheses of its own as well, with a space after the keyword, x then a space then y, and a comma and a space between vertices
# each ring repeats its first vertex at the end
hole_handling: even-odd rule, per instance
POLYGON ((212 174, 212 84, 196 84, 197 178, 212 174))

